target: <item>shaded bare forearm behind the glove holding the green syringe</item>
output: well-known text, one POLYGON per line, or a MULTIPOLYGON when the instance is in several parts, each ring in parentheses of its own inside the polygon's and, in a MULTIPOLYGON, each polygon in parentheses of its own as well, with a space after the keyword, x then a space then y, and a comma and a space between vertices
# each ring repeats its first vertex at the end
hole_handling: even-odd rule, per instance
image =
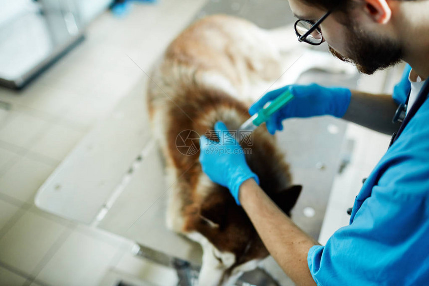
POLYGON ((399 128, 392 123, 398 105, 389 94, 371 94, 352 90, 352 98, 343 119, 385 134, 399 128))

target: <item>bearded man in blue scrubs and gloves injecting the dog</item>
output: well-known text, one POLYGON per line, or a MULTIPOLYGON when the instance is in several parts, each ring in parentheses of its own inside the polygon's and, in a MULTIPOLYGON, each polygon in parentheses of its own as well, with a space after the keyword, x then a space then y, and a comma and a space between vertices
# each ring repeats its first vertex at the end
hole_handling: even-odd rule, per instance
MULTIPOLYGON (((258 186, 238 144, 201 138, 204 172, 227 187, 268 251, 296 285, 429 285, 429 0, 289 0, 300 41, 320 44, 367 74, 408 63, 392 95, 316 84, 265 94, 254 114, 289 89, 295 98, 267 121, 270 133, 290 117, 332 115, 396 133, 356 197, 350 225, 319 245, 258 186), (323 36, 322 36, 323 35, 323 36), (426 82, 425 82, 426 80, 426 82), (401 113, 405 113, 402 124, 401 113), (217 144, 226 152, 206 152, 217 144)), ((387 147, 387 146, 386 146, 387 147)), ((311 192, 311 190, 307 190, 311 192)))

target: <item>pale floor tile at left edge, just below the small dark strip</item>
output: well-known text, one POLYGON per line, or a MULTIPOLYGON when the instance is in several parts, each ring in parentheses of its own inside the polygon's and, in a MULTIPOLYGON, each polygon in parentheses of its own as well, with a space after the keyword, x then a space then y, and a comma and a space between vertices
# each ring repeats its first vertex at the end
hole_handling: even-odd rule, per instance
POLYGON ((0 140, 27 148, 47 126, 47 121, 18 111, 11 111, 0 128, 0 140))

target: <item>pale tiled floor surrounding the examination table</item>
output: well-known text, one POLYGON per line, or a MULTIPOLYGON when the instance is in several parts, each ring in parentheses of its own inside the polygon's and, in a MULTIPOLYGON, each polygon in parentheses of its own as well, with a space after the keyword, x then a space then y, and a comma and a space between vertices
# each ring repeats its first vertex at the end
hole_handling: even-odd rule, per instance
MULTIPOLYGON (((204 0, 184 0, 180 5, 190 7, 196 2, 201 5, 204 0)), ((103 285, 111 269, 153 285, 177 282, 171 270, 134 258, 129 252, 132 242, 33 205, 38 187, 59 162, 142 78, 128 56, 139 65, 154 60, 150 51, 156 45, 151 42, 158 41, 159 34, 151 32, 151 25, 162 30, 162 21, 156 21, 161 14, 177 20, 180 13, 173 13, 177 5, 178 1, 164 0, 158 5, 135 6, 124 19, 106 12, 91 24, 80 46, 27 89, 16 93, 0 88, 0 101, 11 104, 10 110, 0 109, 0 286, 103 285), (146 53, 140 52, 142 47, 146 53)), ((349 129, 348 136, 361 135, 377 143, 386 141, 356 126, 349 129)), ((359 146, 365 149, 367 145, 359 146)), ((351 186, 359 185, 350 178, 359 181, 368 173, 383 153, 373 152, 352 158, 337 180, 322 243, 347 224, 345 209, 358 191, 351 186), (341 192, 345 189, 347 194, 341 192)))

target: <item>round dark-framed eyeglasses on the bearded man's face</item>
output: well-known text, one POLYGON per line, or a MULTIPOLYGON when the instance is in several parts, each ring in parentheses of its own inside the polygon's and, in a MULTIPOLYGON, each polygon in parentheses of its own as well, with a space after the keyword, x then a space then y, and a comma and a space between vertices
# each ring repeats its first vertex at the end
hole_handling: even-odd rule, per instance
POLYGON ((320 45, 323 43, 322 31, 319 29, 319 25, 326 19, 331 11, 326 12, 317 22, 309 20, 297 20, 294 28, 295 33, 298 36, 300 42, 306 42, 312 45, 320 45))

